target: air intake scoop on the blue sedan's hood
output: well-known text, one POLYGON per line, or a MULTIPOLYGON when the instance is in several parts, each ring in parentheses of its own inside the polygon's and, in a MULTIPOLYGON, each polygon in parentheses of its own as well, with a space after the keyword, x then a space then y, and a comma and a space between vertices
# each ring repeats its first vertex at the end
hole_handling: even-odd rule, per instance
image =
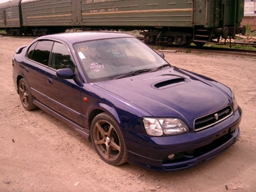
POLYGON ((190 82, 187 78, 173 75, 172 78, 164 79, 162 81, 157 81, 151 85, 154 89, 166 89, 169 87, 174 87, 180 84, 186 84, 190 82))

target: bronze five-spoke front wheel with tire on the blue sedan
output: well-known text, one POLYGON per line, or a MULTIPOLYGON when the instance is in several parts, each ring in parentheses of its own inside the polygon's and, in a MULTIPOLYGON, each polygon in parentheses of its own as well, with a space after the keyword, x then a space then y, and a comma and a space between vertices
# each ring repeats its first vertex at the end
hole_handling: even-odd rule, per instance
POLYGON ((126 163, 123 134, 113 117, 106 113, 98 114, 93 119, 90 131, 93 145, 102 160, 113 166, 126 163))

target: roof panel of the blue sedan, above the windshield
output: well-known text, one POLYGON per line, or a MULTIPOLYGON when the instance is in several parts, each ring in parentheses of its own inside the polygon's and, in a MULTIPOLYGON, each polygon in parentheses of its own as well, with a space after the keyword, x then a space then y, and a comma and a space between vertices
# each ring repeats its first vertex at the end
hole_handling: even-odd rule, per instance
POLYGON ((126 35, 119 32, 70 32, 70 33, 59 33, 53 35, 41 36, 38 39, 55 39, 60 41, 66 41, 70 44, 74 44, 81 41, 93 41, 105 38, 128 38, 133 37, 132 35, 126 35))

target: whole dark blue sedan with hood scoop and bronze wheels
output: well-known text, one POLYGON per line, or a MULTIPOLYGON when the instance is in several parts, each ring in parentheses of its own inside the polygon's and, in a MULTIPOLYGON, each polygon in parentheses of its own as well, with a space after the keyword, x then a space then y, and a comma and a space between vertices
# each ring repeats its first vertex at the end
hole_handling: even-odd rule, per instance
POLYGON ((184 169, 239 138, 242 110, 230 88, 171 66, 130 35, 42 36, 18 47, 12 65, 26 110, 67 123, 114 166, 184 169))

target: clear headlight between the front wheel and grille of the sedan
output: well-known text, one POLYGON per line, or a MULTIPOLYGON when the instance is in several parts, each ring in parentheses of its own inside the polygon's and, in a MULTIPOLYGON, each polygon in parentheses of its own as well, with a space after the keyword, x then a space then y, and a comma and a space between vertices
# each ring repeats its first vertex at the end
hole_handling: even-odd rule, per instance
POLYGON ((143 118, 145 130, 150 136, 172 136, 189 132, 183 120, 178 118, 143 118))

